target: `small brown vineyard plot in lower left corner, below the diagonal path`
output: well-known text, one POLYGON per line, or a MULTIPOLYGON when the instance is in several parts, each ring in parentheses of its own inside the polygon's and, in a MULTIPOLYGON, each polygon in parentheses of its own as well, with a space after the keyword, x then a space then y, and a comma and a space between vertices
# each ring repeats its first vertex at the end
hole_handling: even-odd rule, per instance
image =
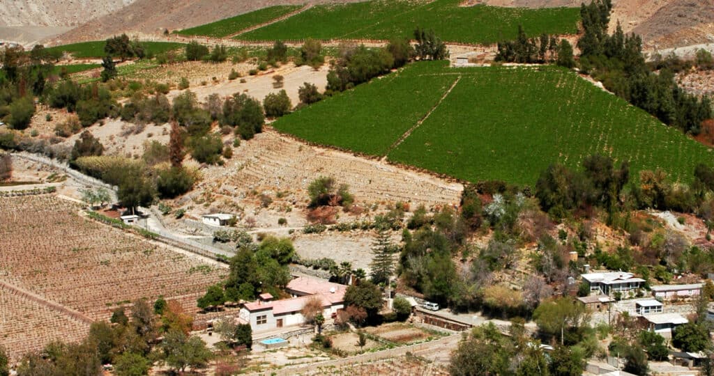
POLYGON ((87 332, 86 322, 0 287, 0 346, 9 351, 11 359, 19 360, 49 342, 79 341, 87 332))

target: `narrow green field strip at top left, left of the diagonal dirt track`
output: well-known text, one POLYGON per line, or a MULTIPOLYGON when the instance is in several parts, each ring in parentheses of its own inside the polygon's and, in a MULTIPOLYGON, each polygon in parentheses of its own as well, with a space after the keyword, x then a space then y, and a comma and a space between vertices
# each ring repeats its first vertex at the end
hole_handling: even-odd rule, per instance
POLYGON ((270 6, 268 8, 251 11, 250 13, 241 14, 229 19, 212 22, 211 24, 196 26, 191 29, 179 30, 176 31, 176 34, 222 38, 223 36, 237 33, 238 31, 247 29, 251 26, 264 24, 300 8, 301 6, 270 6))

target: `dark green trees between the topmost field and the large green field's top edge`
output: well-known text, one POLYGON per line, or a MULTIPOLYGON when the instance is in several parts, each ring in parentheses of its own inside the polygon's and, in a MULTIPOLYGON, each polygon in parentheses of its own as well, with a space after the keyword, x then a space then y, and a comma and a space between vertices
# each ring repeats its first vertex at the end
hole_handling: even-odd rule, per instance
POLYGON ((522 26, 518 26, 518 36, 513 41, 498 43, 496 61, 508 63, 557 63, 565 68, 573 68, 573 46, 565 39, 541 34, 539 38, 528 38, 522 26))

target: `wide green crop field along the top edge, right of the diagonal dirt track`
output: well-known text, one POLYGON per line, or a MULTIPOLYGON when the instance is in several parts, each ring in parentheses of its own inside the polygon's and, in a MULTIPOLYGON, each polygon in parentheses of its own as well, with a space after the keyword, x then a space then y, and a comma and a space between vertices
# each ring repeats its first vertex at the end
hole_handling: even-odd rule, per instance
POLYGON ((461 0, 373 0, 319 5, 283 21, 236 36, 248 41, 391 39, 412 37, 417 26, 433 29, 444 41, 493 43, 514 39, 518 25, 530 35, 575 34, 578 8, 518 9, 458 6, 461 0))

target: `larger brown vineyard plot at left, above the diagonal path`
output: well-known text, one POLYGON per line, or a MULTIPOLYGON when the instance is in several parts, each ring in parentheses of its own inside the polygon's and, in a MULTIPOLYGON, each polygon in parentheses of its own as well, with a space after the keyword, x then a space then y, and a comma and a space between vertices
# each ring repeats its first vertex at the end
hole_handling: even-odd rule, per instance
POLYGON ((0 198, 0 279, 101 320, 137 298, 197 297, 226 274, 78 212, 53 195, 0 198))

